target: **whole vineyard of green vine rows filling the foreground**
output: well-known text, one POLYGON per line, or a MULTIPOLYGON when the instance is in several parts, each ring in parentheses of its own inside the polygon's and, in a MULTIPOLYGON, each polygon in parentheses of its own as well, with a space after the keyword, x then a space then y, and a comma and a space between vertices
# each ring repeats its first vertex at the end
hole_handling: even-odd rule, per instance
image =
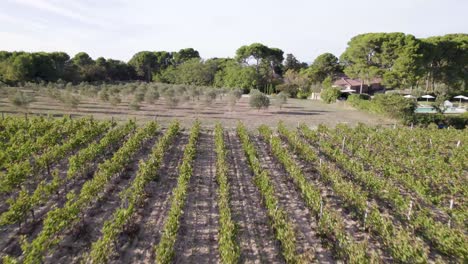
POLYGON ((3 263, 466 263, 468 133, 0 119, 3 263))

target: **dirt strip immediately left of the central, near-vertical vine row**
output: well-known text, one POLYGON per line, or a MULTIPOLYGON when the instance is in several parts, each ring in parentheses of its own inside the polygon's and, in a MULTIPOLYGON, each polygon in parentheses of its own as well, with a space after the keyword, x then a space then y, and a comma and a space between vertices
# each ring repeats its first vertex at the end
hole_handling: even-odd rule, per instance
POLYGON ((175 243, 175 263, 219 263, 216 154, 213 132, 201 131, 175 243))

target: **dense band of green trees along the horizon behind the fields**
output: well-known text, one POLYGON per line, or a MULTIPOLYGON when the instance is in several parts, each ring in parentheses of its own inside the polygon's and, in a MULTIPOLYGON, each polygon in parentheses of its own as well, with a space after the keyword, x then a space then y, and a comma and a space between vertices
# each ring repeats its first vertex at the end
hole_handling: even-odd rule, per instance
POLYGON ((343 74, 369 83, 381 78, 389 88, 426 91, 468 89, 468 34, 416 38, 404 33, 353 37, 340 57, 319 55, 312 64, 261 43, 237 49, 233 58, 202 59, 193 48, 141 51, 128 62, 80 52, 0 51, 0 82, 157 81, 170 84, 284 91, 304 97, 343 74))

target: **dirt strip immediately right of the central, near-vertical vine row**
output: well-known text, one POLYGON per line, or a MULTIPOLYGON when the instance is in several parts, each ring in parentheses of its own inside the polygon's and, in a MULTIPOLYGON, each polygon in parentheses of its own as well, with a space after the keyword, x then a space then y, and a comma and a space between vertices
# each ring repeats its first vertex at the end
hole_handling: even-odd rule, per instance
POLYGON ((241 263, 284 263, 280 243, 268 225, 266 209, 253 183, 253 173, 247 165, 239 138, 225 133, 230 206, 237 226, 241 263))

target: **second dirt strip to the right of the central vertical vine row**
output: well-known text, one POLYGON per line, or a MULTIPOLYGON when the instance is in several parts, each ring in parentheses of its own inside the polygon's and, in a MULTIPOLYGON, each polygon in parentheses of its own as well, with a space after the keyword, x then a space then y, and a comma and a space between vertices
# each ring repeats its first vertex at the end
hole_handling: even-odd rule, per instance
POLYGON ((259 136, 252 136, 263 169, 269 172, 279 204, 288 213, 296 231, 298 254, 314 258, 319 263, 335 263, 331 252, 324 248, 316 232, 317 223, 283 166, 269 153, 269 146, 259 136))

